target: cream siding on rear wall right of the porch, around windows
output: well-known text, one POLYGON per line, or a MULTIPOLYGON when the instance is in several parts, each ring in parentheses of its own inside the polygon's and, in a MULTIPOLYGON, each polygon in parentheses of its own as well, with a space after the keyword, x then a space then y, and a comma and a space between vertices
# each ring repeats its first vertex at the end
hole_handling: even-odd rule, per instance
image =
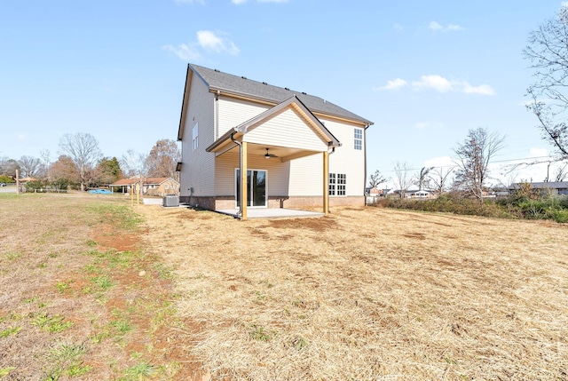
MULTIPOLYGON (((329 155, 329 172, 347 174, 347 187, 345 195, 362 195, 365 192, 365 139, 362 149, 354 148, 354 132, 358 127, 354 124, 338 123, 333 120, 323 122, 335 138, 341 143, 341 147, 335 148, 335 153, 329 155)), ((363 131, 363 136, 365 131, 363 131)), ((341 197, 341 196, 338 196, 341 197)))

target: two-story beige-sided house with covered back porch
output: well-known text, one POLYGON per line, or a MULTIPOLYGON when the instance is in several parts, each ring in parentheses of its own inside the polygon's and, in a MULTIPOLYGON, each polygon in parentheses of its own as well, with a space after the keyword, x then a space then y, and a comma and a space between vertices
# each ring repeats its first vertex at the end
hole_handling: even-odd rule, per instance
POLYGON ((209 210, 364 205, 372 122, 326 99, 190 64, 180 202, 209 210))

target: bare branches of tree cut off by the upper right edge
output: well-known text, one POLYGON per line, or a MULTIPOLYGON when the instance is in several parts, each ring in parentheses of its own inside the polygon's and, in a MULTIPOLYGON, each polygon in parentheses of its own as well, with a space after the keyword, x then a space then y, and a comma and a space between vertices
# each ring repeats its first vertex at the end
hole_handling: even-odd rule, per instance
POLYGON ((568 125, 563 113, 568 108, 568 8, 534 30, 523 51, 535 69, 536 81, 527 89, 532 103, 527 108, 537 116, 543 138, 568 157, 568 125))

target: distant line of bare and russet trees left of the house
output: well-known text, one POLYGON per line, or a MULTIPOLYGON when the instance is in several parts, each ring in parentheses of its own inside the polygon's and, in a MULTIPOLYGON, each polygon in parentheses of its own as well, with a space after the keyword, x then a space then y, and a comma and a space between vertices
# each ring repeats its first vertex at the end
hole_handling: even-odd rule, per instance
POLYGON ((147 154, 129 150, 120 159, 104 156, 99 141, 90 133, 83 132, 63 135, 59 139, 57 154, 54 161, 51 161, 49 150, 42 150, 39 157, 1 157, 0 182, 14 182, 16 171, 19 171, 20 179, 34 179, 40 186, 55 189, 76 187, 84 191, 133 176, 177 179, 176 166, 181 159, 177 143, 170 139, 158 140, 147 154))

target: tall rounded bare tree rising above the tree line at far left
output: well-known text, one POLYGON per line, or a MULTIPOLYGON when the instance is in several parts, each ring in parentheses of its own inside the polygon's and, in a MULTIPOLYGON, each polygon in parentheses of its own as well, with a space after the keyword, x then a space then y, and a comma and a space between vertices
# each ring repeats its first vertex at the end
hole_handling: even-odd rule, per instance
POLYGON ((84 191, 91 178, 92 170, 102 156, 99 142, 90 133, 67 133, 59 140, 59 151, 75 163, 81 190, 84 191))

